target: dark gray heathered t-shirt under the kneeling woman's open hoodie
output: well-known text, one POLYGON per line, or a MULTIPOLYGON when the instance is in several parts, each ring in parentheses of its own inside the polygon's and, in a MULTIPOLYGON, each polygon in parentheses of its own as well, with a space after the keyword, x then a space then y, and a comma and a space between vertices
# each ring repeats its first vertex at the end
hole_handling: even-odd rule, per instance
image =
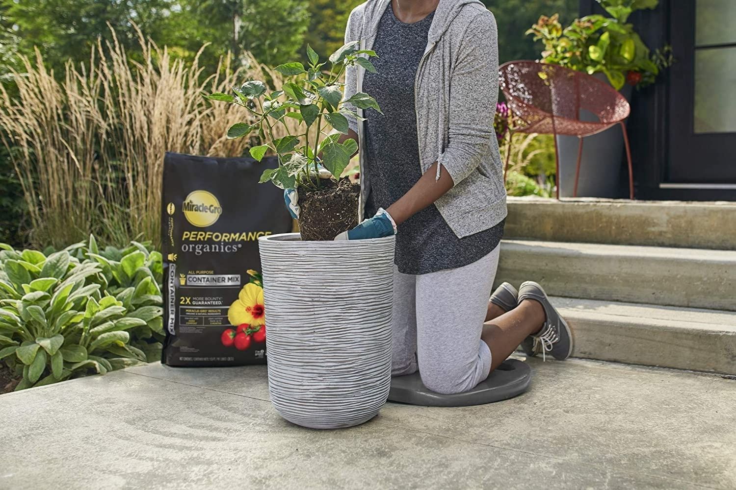
MULTIPOLYGON (((422 176, 414 112, 414 80, 434 13, 414 24, 394 16, 391 4, 378 24, 372 58, 378 73, 366 71, 363 90, 374 97, 383 115, 366 109, 364 117, 367 162, 363 171, 370 183, 365 204, 367 217, 388 208, 422 176)), ((478 107, 478 110, 495 110, 478 107)), ((363 142, 361 142, 362 144, 363 142)), ((481 198, 481 196, 478 196, 481 198)), ((493 228, 458 238, 432 204, 398 227, 395 262, 405 274, 426 274, 475 262, 493 251, 503 235, 503 221, 493 228)))

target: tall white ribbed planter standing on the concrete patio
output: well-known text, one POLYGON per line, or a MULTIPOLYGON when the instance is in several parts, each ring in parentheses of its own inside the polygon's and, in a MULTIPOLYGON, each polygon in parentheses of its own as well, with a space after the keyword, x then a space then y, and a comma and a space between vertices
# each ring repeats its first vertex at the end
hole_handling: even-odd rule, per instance
POLYGON ((269 392, 281 417, 310 428, 367 422, 391 387, 395 237, 258 239, 269 392))

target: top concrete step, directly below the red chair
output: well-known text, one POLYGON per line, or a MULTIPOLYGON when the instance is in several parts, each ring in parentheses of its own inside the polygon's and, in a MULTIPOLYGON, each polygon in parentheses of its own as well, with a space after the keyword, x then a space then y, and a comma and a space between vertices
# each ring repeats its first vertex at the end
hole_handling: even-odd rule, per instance
POLYGON ((512 239, 736 250, 736 203, 509 198, 512 239))

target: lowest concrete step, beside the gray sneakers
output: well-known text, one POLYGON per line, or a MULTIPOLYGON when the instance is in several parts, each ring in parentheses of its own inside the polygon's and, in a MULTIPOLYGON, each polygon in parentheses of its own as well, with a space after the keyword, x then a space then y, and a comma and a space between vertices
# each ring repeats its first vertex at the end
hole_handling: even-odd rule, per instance
POLYGON ((550 298, 573 331, 573 356, 736 375, 736 313, 550 298))

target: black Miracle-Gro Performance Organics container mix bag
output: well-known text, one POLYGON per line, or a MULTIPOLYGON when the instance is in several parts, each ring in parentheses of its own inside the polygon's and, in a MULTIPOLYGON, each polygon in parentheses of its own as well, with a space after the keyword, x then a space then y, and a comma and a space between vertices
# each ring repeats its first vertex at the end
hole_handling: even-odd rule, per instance
POLYGON ((275 159, 166 154, 164 364, 266 362, 258 237, 291 231, 283 191, 258 184, 269 167, 276 167, 275 159))

